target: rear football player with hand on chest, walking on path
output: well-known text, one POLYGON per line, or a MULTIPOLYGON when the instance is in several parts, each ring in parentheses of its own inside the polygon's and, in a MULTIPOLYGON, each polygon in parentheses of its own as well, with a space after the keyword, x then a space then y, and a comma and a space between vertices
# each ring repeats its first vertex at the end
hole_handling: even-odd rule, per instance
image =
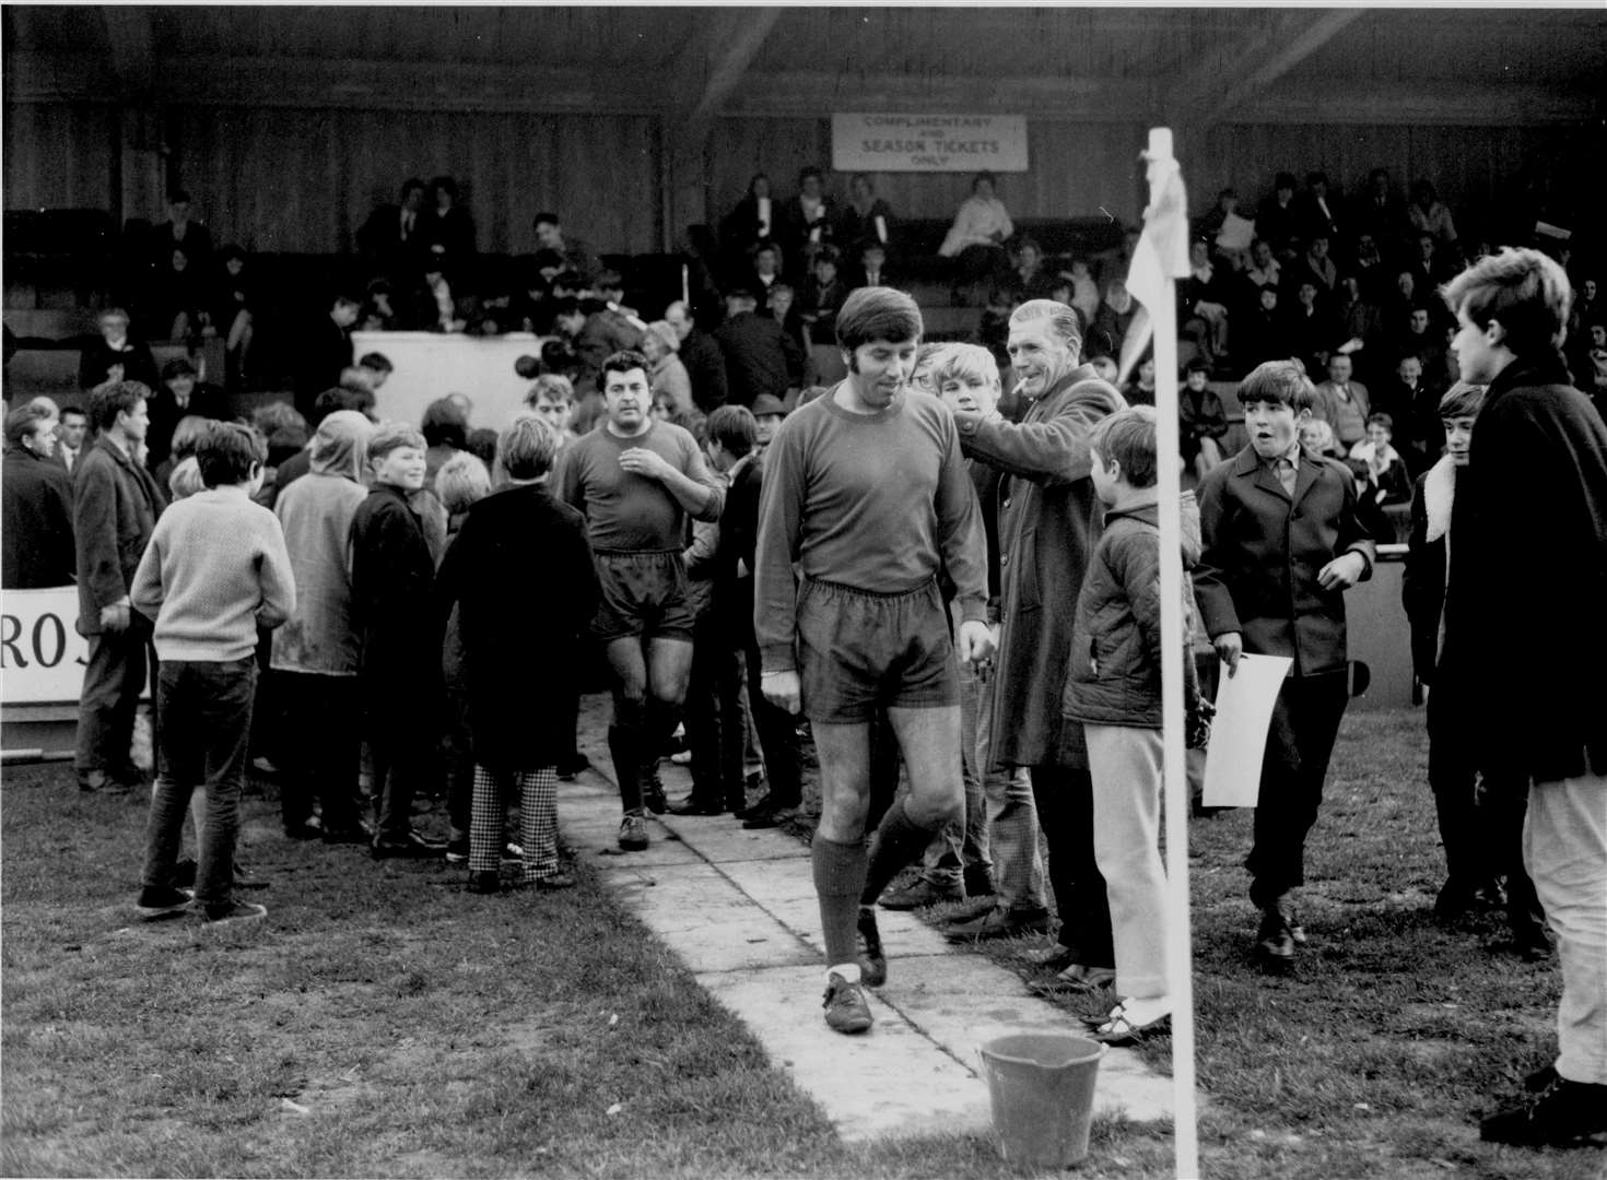
POLYGON ((619 846, 648 846, 646 804, 669 806, 657 782, 659 750, 675 730, 693 661, 694 616, 681 544, 686 519, 718 520, 725 490, 697 443, 648 413, 648 358, 614 353, 603 363, 603 429, 562 451, 556 494, 587 517, 603 584, 591 634, 614 676, 607 743, 624 819, 619 846))

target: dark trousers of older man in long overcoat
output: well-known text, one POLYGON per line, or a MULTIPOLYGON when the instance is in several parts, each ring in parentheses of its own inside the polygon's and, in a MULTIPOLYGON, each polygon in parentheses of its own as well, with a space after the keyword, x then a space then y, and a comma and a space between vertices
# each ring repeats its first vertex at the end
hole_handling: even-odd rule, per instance
POLYGON ((1115 966, 1110 904, 1094 857, 1094 780, 1086 769, 1032 767, 1032 801, 1049 846, 1049 888, 1061 946, 1083 966, 1115 966))

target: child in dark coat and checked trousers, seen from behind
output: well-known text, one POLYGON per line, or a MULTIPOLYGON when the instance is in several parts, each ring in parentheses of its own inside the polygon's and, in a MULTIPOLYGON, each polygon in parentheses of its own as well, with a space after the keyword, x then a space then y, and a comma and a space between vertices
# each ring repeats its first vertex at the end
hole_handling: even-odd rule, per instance
POLYGON ((458 607, 474 753, 469 893, 498 893, 503 791, 519 788, 521 885, 567 889, 558 859, 558 763, 566 676, 598 607, 585 522, 546 488, 559 435, 538 417, 514 421, 497 441, 505 483, 468 512, 440 567, 435 618, 458 607), (540 628, 519 626, 538 618, 540 628), (511 690, 521 686, 519 690, 511 690))

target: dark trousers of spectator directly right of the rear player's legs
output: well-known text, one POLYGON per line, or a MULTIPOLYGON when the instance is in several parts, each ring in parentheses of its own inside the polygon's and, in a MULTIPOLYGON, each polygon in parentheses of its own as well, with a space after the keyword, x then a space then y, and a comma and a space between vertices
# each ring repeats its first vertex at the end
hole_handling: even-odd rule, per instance
POLYGON ((693 798, 709 806, 746 806, 742 777, 747 729, 742 722, 742 653, 725 623, 709 612, 693 633, 686 684, 686 747, 693 755, 693 798))

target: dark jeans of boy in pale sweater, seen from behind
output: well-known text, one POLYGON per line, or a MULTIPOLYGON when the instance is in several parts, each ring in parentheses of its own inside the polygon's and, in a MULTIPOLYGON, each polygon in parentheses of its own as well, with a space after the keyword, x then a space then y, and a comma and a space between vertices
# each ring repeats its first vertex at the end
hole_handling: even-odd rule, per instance
POLYGON ((196 901, 227 905, 235 889, 239 788, 251 740, 254 657, 217 663, 167 660, 156 681, 162 726, 156 742, 156 793, 145 827, 145 886, 172 886, 185 809, 206 787, 206 822, 196 862, 196 901))

